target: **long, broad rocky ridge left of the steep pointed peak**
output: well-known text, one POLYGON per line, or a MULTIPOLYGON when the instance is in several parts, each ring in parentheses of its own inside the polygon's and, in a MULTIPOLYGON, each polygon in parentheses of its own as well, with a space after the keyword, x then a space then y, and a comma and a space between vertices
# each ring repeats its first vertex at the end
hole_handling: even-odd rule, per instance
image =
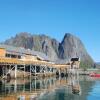
POLYGON ((20 33, 15 37, 6 40, 4 44, 43 52, 49 56, 52 61, 58 59, 57 52, 59 42, 57 42, 55 39, 51 39, 46 35, 31 35, 29 33, 20 33))

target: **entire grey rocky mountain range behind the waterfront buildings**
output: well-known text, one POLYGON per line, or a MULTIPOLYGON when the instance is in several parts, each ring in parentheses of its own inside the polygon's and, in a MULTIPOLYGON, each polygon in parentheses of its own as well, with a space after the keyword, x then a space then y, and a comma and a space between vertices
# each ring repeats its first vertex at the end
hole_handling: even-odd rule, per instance
POLYGON ((67 61, 71 57, 80 57, 81 66, 93 66, 94 62, 87 53, 82 41, 76 36, 66 33, 61 42, 46 35, 19 33, 4 44, 24 47, 45 53, 51 61, 67 61))

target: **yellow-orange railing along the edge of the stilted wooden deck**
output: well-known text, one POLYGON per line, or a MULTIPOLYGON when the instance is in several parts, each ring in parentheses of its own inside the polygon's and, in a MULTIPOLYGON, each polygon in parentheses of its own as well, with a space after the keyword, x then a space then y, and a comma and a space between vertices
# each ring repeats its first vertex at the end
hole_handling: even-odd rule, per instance
POLYGON ((39 66, 48 66, 48 67, 53 67, 53 68, 69 68, 70 64, 54 64, 52 62, 46 62, 46 61, 40 61, 40 60, 33 60, 33 61, 27 61, 26 60, 21 60, 21 59, 17 59, 17 58, 7 58, 7 57, 0 57, 0 64, 33 64, 33 65, 39 65, 39 66))

